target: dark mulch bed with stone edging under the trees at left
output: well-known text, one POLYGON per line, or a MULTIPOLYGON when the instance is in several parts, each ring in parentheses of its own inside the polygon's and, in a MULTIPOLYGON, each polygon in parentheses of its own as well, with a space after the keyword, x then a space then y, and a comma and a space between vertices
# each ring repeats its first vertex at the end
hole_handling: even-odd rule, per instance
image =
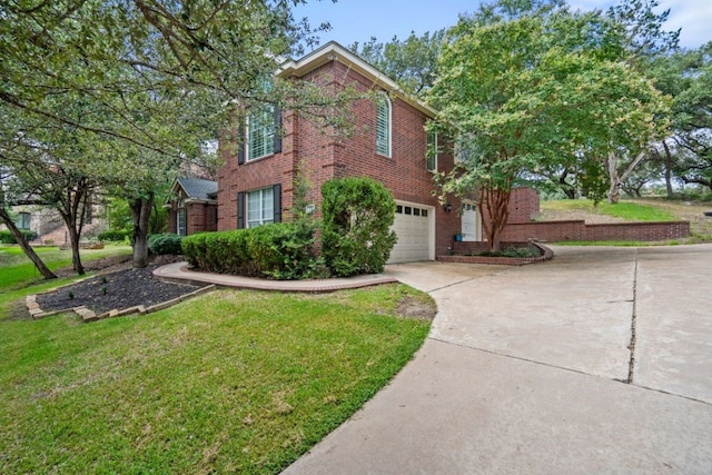
POLYGON ((40 294, 37 303, 44 311, 86 306, 97 314, 137 305, 149 307, 189 294, 204 286, 165 283, 154 277, 157 265, 144 269, 123 268, 92 277, 51 294, 40 294))

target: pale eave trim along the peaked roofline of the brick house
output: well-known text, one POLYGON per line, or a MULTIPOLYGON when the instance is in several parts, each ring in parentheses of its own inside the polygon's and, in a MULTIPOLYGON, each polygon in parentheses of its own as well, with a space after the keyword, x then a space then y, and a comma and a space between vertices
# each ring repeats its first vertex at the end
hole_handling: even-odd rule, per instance
POLYGON ((362 76, 373 80, 384 89, 390 92, 395 92, 403 100, 405 100, 426 116, 431 118, 435 118, 437 116, 437 111, 431 106, 411 95, 407 95, 393 79, 388 78, 384 72, 370 66, 357 55, 348 51, 336 41, 329 41, 328 43, 315 49, 307 56, 303 57, 301 59, 285 62, 277 70, 276 76, 280 78, 288 78, 290 76, 301 77, 307 72, 313 71, 314 69, 334 60, 338 60, 349 68, 355 69, 362 76))

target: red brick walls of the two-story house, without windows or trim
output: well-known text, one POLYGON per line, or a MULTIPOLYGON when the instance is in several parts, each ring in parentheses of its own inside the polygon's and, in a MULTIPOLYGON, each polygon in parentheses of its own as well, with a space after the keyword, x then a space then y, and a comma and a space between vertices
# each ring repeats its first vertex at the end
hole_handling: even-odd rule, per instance
MULTIPOLYGON (((304 76, 295 78, 320 83, 325 90, 346 85, 360 92, 382 91, 372 81, 338 61, 330 61, 304 76)), ((433 175, 427 171, 425 154, 427 117, 397 93, 388 93, 392 106, 392 156, 376 152, 376 105, 372 99, 354 101, 350 137, 337 137, 322 126, 294 112, 285 111, 283 151, 245 165, 237 165, 237 146, 226 142, 222 135, 221 157, 224 166, 218 174, 218 229, 237 227, 237 194, 281 184, 283 217, 293 202, 295 169, 301 161, 304 174, 310 184, 307 202, 316 206, 317 216, 322 202, 320 188, 329 178, 369 177, 383 182, 396 200, 409 201, 435 209, 435 254, 442 255, 453 246, 453 235, 459 231, 459 199, 452 198, 452 212, 445 212, 433 196, 433 175), (229 145, 226 147, 226 145, 229 145)), ((438 154, 438 170, 453 168, 449 152, 438 154)), ((511 222, 527 222, 538 216, 538 196, 531 189, 514 191, 511 204, 511 222)))

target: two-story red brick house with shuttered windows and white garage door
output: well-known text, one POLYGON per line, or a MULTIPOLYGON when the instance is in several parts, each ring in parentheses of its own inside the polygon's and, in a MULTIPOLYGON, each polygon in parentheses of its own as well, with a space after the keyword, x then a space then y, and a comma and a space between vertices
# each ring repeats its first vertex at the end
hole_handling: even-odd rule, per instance
MULTIPOLYGON (((218 230, 287 218, 301 162, 312 185, 307 201, 317 214, 322 185, 329 178, 370 177, 392 191, 398 243, 390 263, 434 260, 449 253, 456 234, 462 234, 464 241, 482 239, 475 202, 452 197, 441 206, 433 196, 433 172, 451 170, 454 158, 442 152, 426 157, 428 144, 437 140, 425 130, 427 120, 435 117, 432 108, 407 97, 394 81, 336 42, 283 65, 278 76, 336 87, 349 85, 360 92, 376 92, 376 99, 353 102, 354 133, 346 139, 325 135, 293 111, 273 109, 261 111, 261 117, 248 117, 240 146, 220 144, 224 165, 218 174, 218 230)), ((513 198, 521 210, 512 215, 526 215, 534 206, 530 201, 526 194, 513 198)), ((535 207, 537 210, 538 200, 535 207)))

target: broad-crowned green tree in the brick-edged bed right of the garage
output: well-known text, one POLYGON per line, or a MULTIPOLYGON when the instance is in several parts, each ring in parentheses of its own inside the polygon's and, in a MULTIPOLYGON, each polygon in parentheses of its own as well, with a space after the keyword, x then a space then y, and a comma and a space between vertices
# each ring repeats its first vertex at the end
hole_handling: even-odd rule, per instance
POLYGON ((501 0, 448 34, 429 98, 456 132, 459 162, 441 178, 442 192, 479 195, 491 250, 524 177, 572 157, 604 167, 657 131, 665 103, 620 59, 617 29, 601 12, 501 0))

